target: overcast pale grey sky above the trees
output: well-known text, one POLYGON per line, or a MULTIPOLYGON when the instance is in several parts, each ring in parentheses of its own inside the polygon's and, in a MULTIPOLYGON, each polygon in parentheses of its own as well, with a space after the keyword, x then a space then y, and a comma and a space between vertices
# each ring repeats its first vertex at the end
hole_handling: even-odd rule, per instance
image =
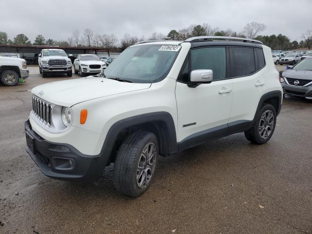
POLYGON ((85 28, 147 39, 202 23, 241 32, 256 21, 267 25, 263 35, 282 33, 291 40, 312 29, 312 0, 0 0, 0 9, 0 31, 10 39, 23 33, 32 42, 37 34, 67 40, 85 28))

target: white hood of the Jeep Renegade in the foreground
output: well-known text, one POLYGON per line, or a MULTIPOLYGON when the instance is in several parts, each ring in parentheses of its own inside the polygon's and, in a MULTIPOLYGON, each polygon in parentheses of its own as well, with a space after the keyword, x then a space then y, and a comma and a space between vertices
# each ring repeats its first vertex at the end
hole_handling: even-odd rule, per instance
POLYGON ((31 92, 50 103, 70 107, 79 102, 149 87, 151 83, 128 83, 90 76, 42 84, 33 88, 31 92))

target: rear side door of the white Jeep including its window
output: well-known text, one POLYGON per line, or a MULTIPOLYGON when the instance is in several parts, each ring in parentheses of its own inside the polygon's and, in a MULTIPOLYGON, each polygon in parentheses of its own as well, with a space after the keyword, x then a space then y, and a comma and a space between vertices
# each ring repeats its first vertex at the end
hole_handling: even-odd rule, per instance
POLYGON ((231 126, 254 119, 259 99, 265 89, 265 66, 261 48, 231 47, 230 74, 233 81, 233 105, 229 120, 231 126))

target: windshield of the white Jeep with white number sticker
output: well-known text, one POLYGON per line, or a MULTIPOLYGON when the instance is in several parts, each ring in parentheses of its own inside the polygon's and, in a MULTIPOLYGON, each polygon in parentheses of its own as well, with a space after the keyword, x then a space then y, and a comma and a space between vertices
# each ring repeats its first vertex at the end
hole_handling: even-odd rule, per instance
POLYGON ((180 45, 138 45, 127 48, 106 68, 106 78, 152 83, 165 78, 172 67, 180 45))

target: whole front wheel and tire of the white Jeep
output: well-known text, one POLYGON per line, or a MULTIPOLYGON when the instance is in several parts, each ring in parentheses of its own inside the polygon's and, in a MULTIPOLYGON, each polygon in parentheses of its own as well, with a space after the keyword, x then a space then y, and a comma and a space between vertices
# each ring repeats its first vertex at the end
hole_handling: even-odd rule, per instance
POLYGON ((137 197, 148 189, 156 170, 158 149, 153 133, 140 130, 125 138, 114 166, 114 185, 118 192, 137 197))

